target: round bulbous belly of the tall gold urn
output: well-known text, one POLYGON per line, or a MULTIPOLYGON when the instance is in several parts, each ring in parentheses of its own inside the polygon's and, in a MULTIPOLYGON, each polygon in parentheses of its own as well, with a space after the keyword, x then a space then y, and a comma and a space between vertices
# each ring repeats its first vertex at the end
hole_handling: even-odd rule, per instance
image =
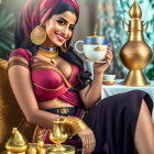
POLYGON ((142 70, 151 62, 152 52, 144 41, 129 41, 121 48, 120 58, 127 68, 142 70))

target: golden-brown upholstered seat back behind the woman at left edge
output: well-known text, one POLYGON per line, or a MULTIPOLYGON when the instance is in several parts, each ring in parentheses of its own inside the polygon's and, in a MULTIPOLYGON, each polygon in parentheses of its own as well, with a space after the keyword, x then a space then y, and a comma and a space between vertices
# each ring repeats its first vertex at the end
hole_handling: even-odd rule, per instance
POLYGON ((7 66, 8 61, 0 58, 0 151, 4 150, 4 143, 11 136, 13 128, 18 128, 29 142, 32 142, 35 129, 35 125, 25 120, 15 100, 9 82, 7 66))

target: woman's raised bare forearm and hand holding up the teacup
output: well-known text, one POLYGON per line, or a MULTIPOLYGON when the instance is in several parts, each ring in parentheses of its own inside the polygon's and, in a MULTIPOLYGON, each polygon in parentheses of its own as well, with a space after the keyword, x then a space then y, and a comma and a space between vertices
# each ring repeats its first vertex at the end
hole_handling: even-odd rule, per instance
POLYGON ((80 99, 82 100, 85 108, 90 109, 96 105, 96 102, 101 97, 101 88, 102 88, 102 79, 103 73, 111 64, 112 52, 111 48, 108 47, 107 51, 107 62, 106 64, 94 64, 94 82, 92 85, 88 85, 86 88, 79 91, 80 99))

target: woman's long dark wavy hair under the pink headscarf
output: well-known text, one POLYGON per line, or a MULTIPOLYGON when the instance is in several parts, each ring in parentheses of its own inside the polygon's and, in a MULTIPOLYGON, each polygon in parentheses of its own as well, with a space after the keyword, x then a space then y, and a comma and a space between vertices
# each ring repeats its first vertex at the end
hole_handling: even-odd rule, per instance
MULTIPOLYGON (((35 4, 36 4, 36 1, 32 3, 32 8, 31 8, 32 10, 34 9, 35 4)), ((47 10, 47 8, 46 8, 46 10, 47 10)), ((44 10, 44 13, 46 10, 44 10)), ((72 6, 68 2, 61 1, 53 9, 52 13, 48 15, 47 19, 51 19, 54 14, 62 14, 65 11, 70 11, 72 13, 75 13, 76 16, 78 16, 77 11, 74 8, 74 6, 72 6)), ((22 47, 22 48, 29 50, 32 53, 32 56, 34 56, 37 53, 38 46, 33 44, 31 42, 30 37, 28 37, 28 40, 24 43, 22 43, 21 36, 19 37, 19 31, 22 32, 20 22, 21 21, 19 21, 19 23, 16 24, 16 28, 15 28, 15 34, 14 34, 15 47, 16 48, 22 47)), ((77 23, 77 21, 76 21, 76 23, 77 23)), ((69 46, 67 53, 63 53, 61 47, 58 47, 58 51, 59 51, 59 56, 62 58, 64 58, 65 61, 72 63, 72 64, 77 65, 79 68, 79 73, 77 75, 77 84, 76 84, 75 88, 79 90, 79 89, 85 88, 88 84, 91 84, 91 78, 90 78, 91 74, 89 72, 85 72, 84 63, 78 57, 78 55, 75 54, 74 48, 72 46, 69 46)))

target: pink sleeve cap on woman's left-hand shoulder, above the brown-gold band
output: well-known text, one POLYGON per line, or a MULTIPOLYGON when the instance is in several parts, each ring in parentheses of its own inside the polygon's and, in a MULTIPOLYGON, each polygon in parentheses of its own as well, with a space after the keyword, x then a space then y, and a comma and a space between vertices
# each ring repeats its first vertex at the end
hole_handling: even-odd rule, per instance
POLYGON ((28 62, 30 62, 30 58, 31 58, 32 54, 31 54, 31 52, 29 52, 28 50, 18 48, 18 50, 13 51, 13 52, 10 54, 9 59, 10 59, 11 57, 14 57, 14 56, 16 56, 16 57, 22 57, 22 58, 26 59, 28 62))

